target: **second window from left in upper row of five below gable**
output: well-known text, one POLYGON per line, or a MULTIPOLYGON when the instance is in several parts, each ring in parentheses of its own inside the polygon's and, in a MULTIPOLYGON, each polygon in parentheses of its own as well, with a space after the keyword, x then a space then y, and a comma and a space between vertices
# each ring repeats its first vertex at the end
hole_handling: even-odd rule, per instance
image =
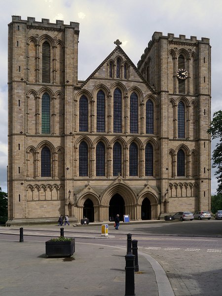
POLYGON ((97 93, 97 132, 105 132, 105 94, 102 90, 97 93))

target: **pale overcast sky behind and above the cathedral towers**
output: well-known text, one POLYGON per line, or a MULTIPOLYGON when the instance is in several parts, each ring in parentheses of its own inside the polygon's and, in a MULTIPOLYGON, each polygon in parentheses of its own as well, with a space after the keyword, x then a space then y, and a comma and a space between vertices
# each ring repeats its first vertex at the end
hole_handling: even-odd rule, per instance
MULTIPOLYGON (((153 32, 210 38, 212 114, 222 109, 222 0, 0 0, 0 187, 7 192, 7 25, 12 15, 79 23, 78 79, 86 79, 119 39, 135 65, 153 32)), ((212 148, 214 148, 213 143, 212 148)), ((212 170, 212 194, 217 182, 212 170)))

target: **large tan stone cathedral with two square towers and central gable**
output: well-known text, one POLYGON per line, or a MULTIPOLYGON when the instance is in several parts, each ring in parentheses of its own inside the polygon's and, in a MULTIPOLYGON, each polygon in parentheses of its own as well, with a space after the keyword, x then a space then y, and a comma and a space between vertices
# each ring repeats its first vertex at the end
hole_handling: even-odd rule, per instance
POLYGON ((154 32, 137 66, 117 39, 79 81, 78 37, 76 22, 8 25, 6 225, 211 210, 209 38, 154 32))

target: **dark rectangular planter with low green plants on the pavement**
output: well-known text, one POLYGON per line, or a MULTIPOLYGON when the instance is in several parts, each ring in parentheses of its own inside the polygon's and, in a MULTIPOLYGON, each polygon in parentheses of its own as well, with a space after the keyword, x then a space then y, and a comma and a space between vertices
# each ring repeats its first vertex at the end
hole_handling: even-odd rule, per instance
POLYGON ((45 242, 45 253, 47 257, 70 257, 75 252, 75 239, 68 241, 45 242))

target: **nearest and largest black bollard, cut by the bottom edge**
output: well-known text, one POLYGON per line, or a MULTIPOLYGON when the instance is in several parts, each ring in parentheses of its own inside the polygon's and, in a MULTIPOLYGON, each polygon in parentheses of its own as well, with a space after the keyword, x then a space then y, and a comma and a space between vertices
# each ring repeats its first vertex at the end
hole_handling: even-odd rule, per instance
POLYGON ((135 281, 134 281, 134 259, 133 254, 126 254, 126 282, 125 282, 125 296, 135 296, 135 281))

